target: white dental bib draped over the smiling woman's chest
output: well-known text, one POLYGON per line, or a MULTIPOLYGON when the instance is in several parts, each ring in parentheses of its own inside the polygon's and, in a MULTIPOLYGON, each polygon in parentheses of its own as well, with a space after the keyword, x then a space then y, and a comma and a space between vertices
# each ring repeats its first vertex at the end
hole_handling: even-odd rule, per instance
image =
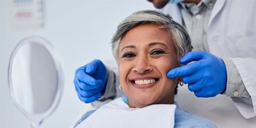
POLYGON ((77 127, 173 127, 175 109, 175 104, 153 104, 145 108, 129 108, 122 98, 118 98, 97 109, 77 127))

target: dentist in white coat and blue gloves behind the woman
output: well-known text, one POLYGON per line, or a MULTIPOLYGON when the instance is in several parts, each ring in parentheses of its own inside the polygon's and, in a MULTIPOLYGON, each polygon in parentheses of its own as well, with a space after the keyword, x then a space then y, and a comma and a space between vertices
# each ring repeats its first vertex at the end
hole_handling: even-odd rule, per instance
MULTIPOLYGON (((166 75, 182 77, 196 97, 225 94, 244 118, 255 117, 256 1, 150 2, 186 28, 194 48, 179 61, 184 66, 166 75)), ((86 103, 115 98, 116 87, 111 83, 117 82, 115 74, 101 61, 78 68, 74 77, 77 95, 86 103)))

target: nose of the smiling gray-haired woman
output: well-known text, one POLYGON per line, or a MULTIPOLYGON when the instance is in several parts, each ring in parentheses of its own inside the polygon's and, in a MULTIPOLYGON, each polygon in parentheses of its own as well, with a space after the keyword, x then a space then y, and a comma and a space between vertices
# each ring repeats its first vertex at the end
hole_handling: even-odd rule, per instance
POLYGON ((147 72, 151 72, 152 70, 153 68, 150 66, 147 58, 138 58, 133 71, 138 74, 145 74, 147 72))

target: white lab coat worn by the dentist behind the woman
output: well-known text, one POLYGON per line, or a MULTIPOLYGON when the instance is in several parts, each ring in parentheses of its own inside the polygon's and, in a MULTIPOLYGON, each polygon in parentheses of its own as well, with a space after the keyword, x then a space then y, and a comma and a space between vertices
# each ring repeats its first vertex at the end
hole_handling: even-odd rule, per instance
MULTIPOLYGON (((180 8, 168 4, 162 10, 182 23, 180 8)), ((207 31, 212 54, 231 58, 252 99, 232 98, 245 118, 256 116, 256 1, 217 0, 212 8, 207 31)))

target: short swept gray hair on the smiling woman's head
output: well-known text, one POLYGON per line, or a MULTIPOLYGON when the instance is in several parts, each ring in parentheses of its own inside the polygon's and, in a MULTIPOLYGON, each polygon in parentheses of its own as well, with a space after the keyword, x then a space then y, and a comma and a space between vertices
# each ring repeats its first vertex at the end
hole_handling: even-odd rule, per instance
POLYGON ((111 47, 113 55, 118 62, 119 56, 119 46, 122 37, 136 26, 142 24, 152 24, 158 26, 159 28, 164 28, 170 32, 173 36, 173 42, 175 45, 175 50, 177 52, 177 59, 180 60, 186 52, 191 51, 191 40, 188 33, 179 23, 172 20, 170 15, 164 15, 161 12, 154 10, 143 10, 139 12, 132 13, 129 17, 126 17, 117 27, 117 31, 111 40, 111 47))

